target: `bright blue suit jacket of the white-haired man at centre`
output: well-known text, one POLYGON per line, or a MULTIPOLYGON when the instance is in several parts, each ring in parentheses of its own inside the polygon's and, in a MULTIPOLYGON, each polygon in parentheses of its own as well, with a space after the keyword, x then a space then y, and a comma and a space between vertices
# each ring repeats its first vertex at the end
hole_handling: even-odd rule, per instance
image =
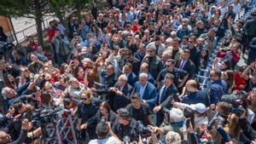
MULTIPOLYGON (((140 93, 141 85, 139 82, 136 82, 134 85, 133 92, 140 93)), ((155 97, 156 97, 156 88, 154 87, 154 84, 147 83, 147 86, 145 88, 144 94, 143 94, 143 100, 146 100, 149 107, 153 108, 155 104, 155 97)))

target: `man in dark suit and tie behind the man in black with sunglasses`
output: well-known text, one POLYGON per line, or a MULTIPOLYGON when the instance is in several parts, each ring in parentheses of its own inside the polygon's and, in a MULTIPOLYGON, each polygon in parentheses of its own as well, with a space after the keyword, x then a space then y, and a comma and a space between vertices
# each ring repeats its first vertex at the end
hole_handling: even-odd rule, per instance
POLYGON ((195 73, 195 64, 189 59, 189 56, 189 49, 185 49, 182 58, 177 60, 176 67, 188 72, 189 78, 193 78, 195 73))

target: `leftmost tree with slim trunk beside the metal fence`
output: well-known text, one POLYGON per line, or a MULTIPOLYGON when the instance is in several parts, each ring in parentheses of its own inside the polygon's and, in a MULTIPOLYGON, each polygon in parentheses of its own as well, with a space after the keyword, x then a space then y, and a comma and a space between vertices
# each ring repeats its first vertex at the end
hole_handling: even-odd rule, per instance
POLYGON ((43 47, 43 16, 49 14, 49 0, 1 0, 0 15, 23 16, 36 21, 38 43, 43 47))

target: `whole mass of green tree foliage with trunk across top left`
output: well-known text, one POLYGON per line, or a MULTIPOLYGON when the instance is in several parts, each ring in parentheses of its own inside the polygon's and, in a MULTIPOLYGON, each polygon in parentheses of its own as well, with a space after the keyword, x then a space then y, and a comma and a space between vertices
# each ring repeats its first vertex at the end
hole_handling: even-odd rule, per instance
POLYGON ((81 11, 88 7, 93 0, 0 0, 0 15, 23 16, 36 20, 38 31, 38 43, 43 46, 43 16, 55 14, 55 16, 67 26, 67 16, 75 13, 81 15, 81 11))

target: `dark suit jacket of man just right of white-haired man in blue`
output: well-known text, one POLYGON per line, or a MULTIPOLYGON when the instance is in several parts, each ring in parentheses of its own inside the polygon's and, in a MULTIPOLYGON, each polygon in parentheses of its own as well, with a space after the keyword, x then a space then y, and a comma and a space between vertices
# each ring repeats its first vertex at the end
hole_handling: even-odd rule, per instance
MULTIPOLYGON (((161 87, 162 88, 162 87, 161 87)), ((155 97, 156 106, 166 107, 169 109, 171 107, 170 102, 174 99, 177 101, 177 88, 174 84, 166 89, 164 96, 160 99, 160 93, 155 97)))

